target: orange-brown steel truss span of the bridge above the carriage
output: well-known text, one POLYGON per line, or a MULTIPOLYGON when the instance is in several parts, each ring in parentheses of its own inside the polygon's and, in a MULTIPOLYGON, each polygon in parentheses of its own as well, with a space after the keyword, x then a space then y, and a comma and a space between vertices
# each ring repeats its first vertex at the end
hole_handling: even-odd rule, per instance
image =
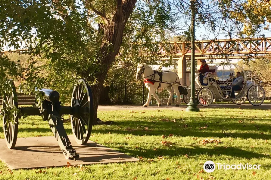
MULTIPOLYGON (((159 45, 161 60, 191 58, 191 42, 159 45)), ((271 38, 195 41, 195 59, 271 58, 271 38)))

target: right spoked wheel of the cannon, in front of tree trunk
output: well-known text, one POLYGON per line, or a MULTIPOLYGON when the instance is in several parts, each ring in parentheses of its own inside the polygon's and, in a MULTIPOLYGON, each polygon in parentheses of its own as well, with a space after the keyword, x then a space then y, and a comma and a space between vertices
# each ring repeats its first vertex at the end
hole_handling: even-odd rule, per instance
POLYGON ((73 88, 71 106, 78 109, 77 114, 70 115, 71 126, 76 143, 88 142, 93 125, 93 102, 90 87, 84 79, 73 88))

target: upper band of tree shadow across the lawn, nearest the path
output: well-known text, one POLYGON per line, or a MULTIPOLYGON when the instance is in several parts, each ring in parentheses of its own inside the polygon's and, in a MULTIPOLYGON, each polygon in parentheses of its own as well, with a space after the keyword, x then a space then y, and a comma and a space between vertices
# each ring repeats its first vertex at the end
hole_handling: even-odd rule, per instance
MULTIPOLYGON (((269 124, 244 124, 234 122, 218 122, 218 123, 207 123, 207 128, 200 129, 204 127, 206 123, 202 122, 162 122, 162 121, 118 121, 114 123, 118 127, 124 127, 123 129, 115 128, 114 126, 108 126, 108 129, 93 129, 92 133, 107 134, 109 131, 111 134, 133 134, 135 136, 142 135, 169 135, 173 134, 175 136, 195 136, 195 137, 234 137, 242 139, 271 139, 270 134, 260 134, 260 132, 269 132, 271 125, 269 124), (128 128, 129 127, 129 128, 128 128), (148 127, 148 130, 145 130, 148 127), (115 128, 115 129, 114 129, 115 128), (126 129, 127 128, 127 129, 126 129), (237 130, 240 133, 232 133, 233 130, 237 130), (242 132, 246 131, 246 132, 242 132), (249 131, 260 131, 257 133, 249 133, 249 131)), ((107 127, 107 126, 105 126, 107 127)))

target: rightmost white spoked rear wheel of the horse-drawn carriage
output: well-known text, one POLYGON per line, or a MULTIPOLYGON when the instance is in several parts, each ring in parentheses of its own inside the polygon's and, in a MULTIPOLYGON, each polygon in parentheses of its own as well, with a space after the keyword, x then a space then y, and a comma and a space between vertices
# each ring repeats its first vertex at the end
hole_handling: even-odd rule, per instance
POLYGON ((248 89, 248 101, 253 106, 259 106, 263 104, 265 98, 265 92, 260 85, 252 85, 248 89))

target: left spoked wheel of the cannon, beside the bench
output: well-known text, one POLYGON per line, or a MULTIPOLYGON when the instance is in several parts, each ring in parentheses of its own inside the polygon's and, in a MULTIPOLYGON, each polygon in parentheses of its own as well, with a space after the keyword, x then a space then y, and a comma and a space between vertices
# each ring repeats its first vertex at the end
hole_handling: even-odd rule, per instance
POLYGON ((4 93, 3 96, 3 130, 6 140, 6 144, 9 149, 15 147, 18 134, 18 102, 17 102, 17 93, 14 86, 14 82, 11 81, 11 91, 4 93))

